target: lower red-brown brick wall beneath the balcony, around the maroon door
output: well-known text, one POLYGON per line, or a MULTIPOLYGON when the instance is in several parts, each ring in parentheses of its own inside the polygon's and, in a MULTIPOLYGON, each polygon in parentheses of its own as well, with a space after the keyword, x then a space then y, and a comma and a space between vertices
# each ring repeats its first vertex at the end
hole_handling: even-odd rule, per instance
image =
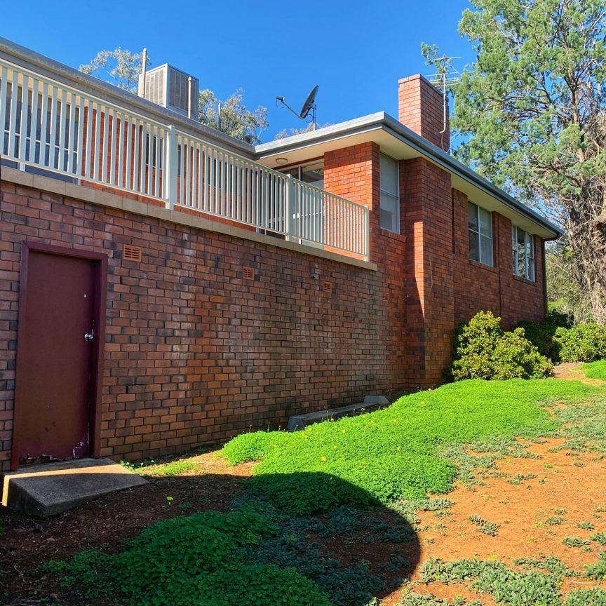
POLYGON ((102 455, 181 452, 404 386, 401 275, 0 184, 3 469, 26 239, 109 255, 102 455))

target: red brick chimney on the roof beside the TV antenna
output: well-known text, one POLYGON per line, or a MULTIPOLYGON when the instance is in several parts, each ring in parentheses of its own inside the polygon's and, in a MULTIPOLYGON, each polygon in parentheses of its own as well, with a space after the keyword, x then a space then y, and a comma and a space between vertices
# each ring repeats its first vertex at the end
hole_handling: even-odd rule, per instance
POLYGON ((441 133, 444 130, 442 92, 431 85, 421 74, 398 80, 398 85, 398 119, 400 122, 448 152, 450 149, 448 104, 446 104, 446 130, 441 133))

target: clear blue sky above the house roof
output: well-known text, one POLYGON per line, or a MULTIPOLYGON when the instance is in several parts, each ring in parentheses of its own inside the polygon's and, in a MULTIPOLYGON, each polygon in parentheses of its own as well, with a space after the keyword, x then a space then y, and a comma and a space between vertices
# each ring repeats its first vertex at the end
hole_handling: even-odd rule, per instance
POLYGON ((276 95, 299 109, 316 84, 319 123, 379 110, 397 116, 398 79, 431 72, 422 41, 462 55, 455 63, 461 69, 473 60, 457 33, 470 6, 467 0, 23 0, 5 6, 0 36, 72 67, 104 48, 147 46, 152 67, 171 63, 220 98, 241 87, 247 107, 265 105, 267 141, 302 126, 276 107, 276 95))

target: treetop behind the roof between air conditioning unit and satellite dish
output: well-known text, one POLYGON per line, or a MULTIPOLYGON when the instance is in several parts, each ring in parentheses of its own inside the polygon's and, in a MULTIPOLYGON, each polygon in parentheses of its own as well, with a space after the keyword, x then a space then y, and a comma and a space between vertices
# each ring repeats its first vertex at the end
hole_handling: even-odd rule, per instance
POLYGON ((231 137, 247 143, 260 143, 260 132, 267 128, 267 107, 260 105, 253 112, 243 104, 244 91, 235 93, 219 102, 212 90, 201 90, 198 101, 198 119, 231 137), (221 103, 221 123, 219 123, 219 103, 221 103))

